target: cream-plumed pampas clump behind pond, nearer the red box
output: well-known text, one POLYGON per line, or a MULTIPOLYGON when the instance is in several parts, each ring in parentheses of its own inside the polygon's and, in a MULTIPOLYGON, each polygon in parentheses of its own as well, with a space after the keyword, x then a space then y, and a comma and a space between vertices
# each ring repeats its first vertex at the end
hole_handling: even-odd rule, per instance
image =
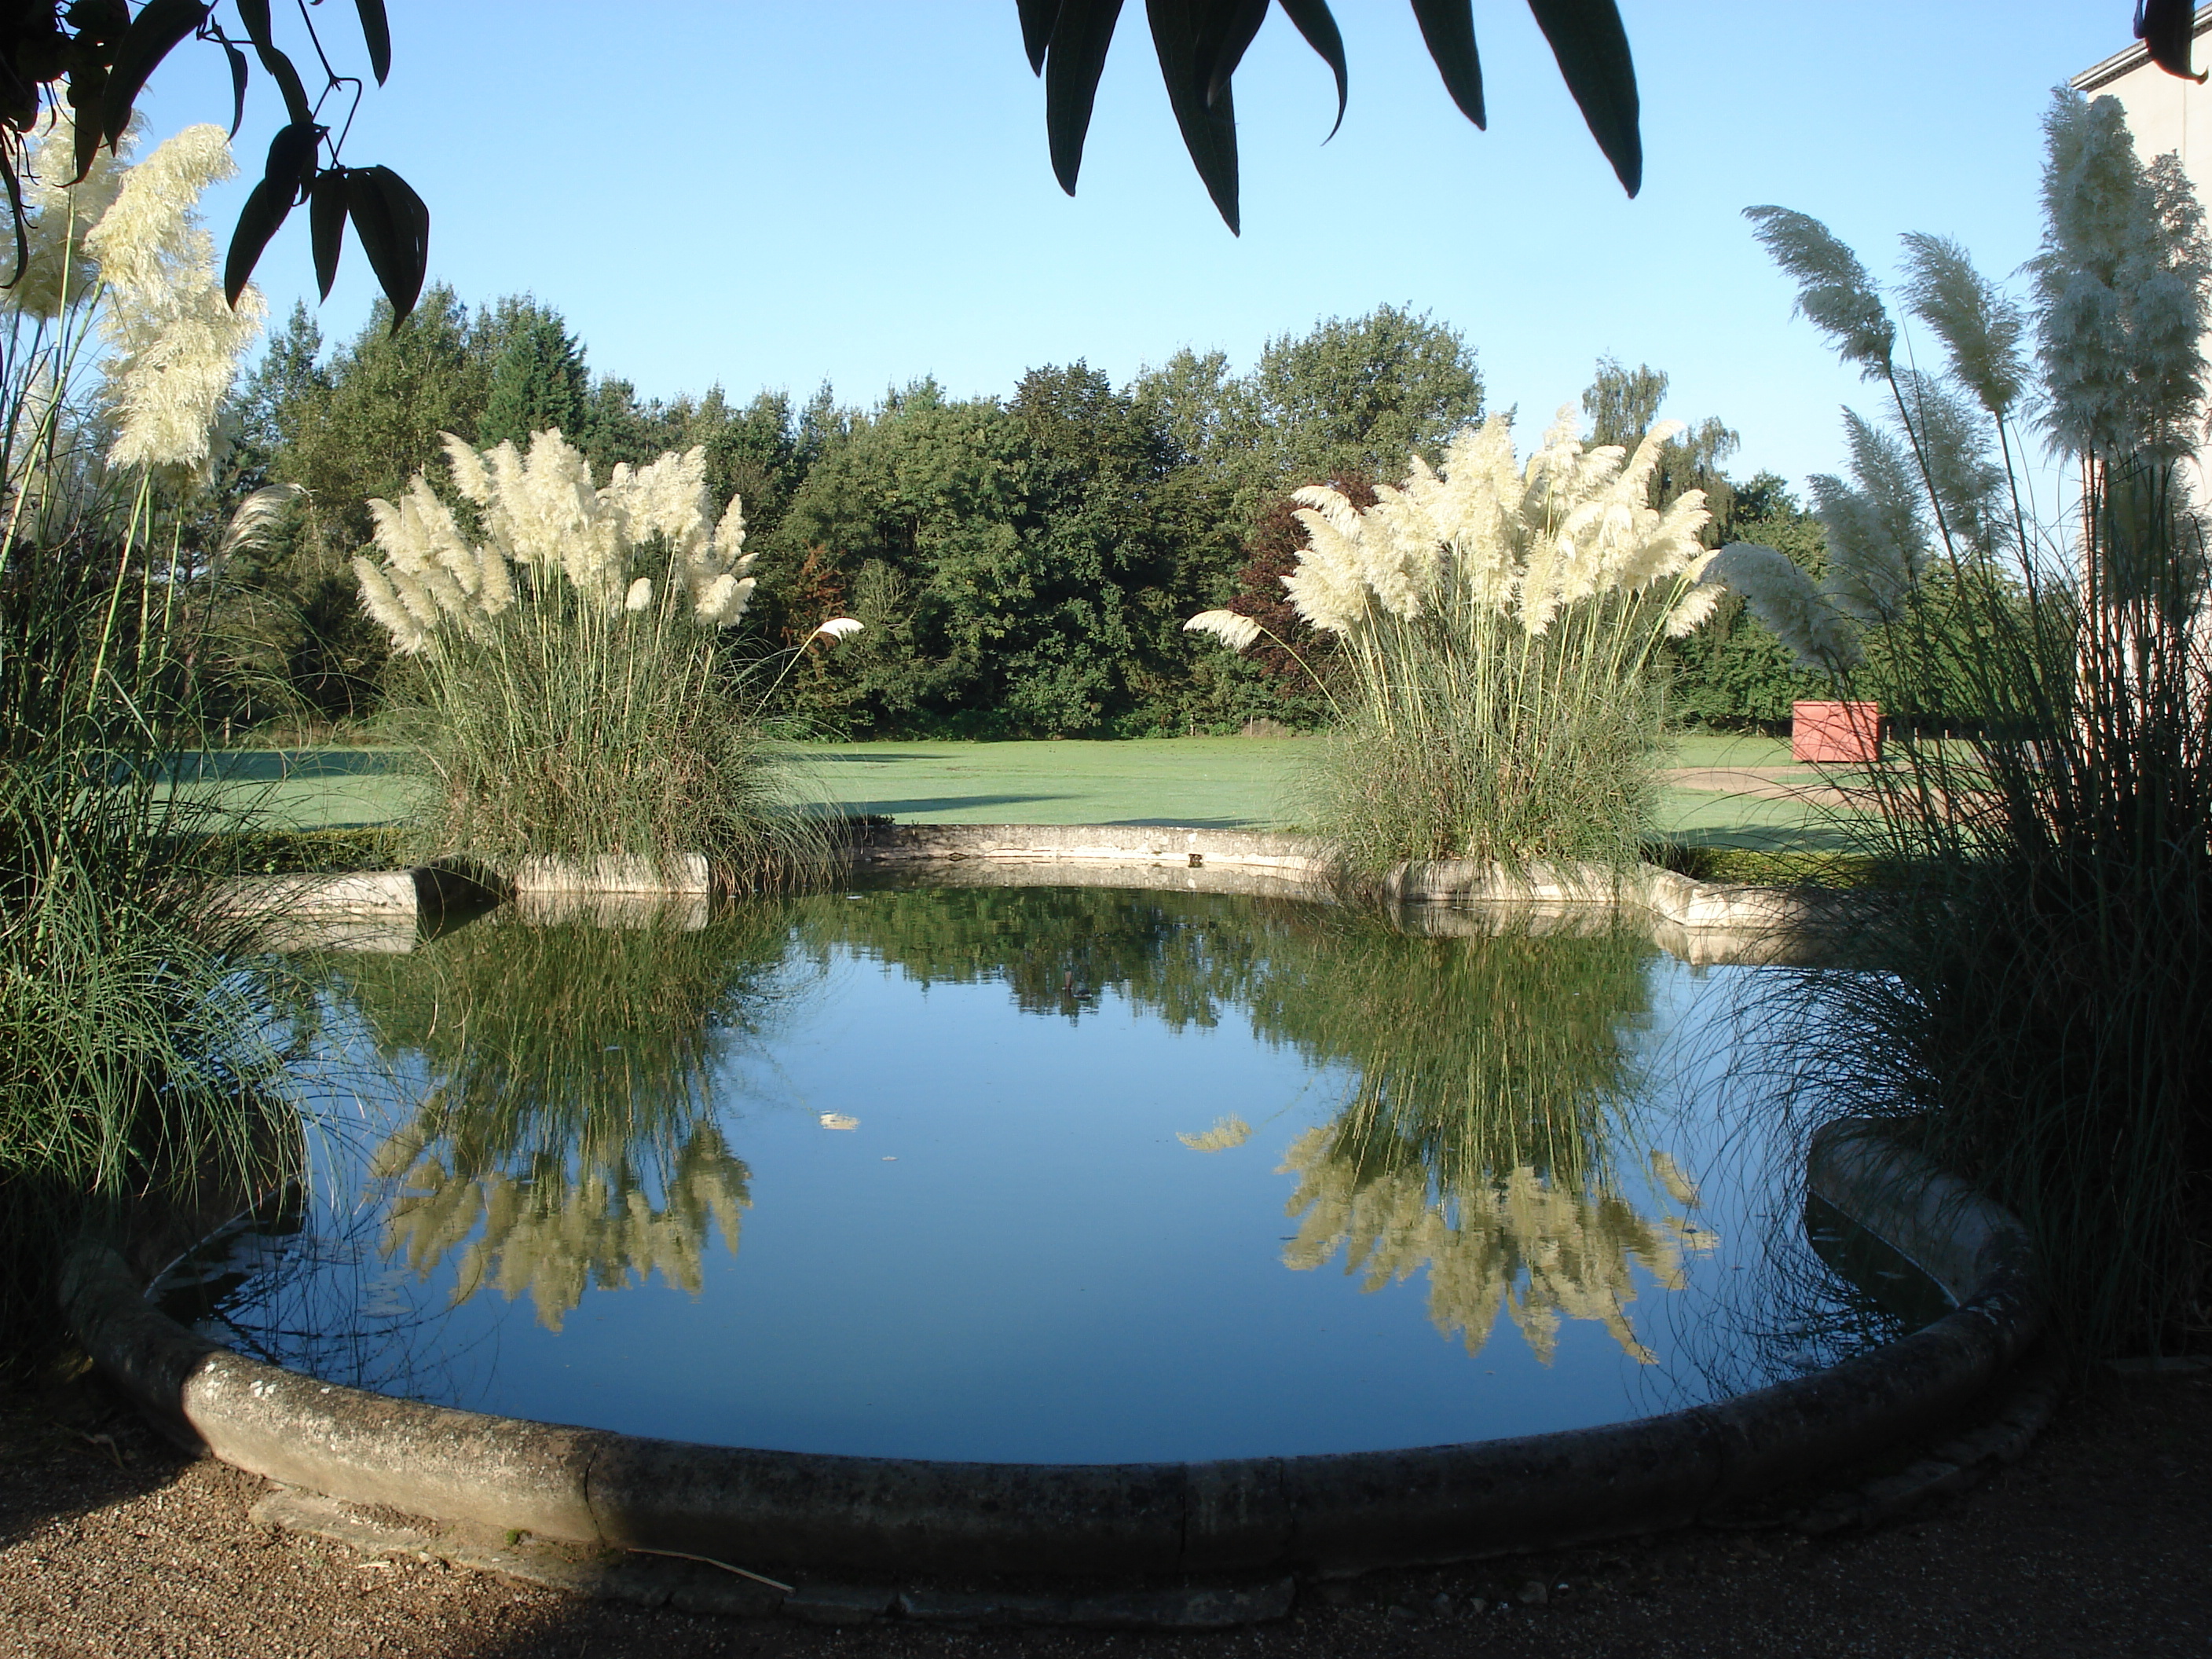
MULTIPOLYGON (((1493 416, 1365 511, 1298 491, 1307 540, 1283 586, 1338 639, 1314 823, 1347 876, 1411 858, 1635 863, 1657 792, 1652 655, 1717 599, 1699 584, 1703 491, 1650 507, 1674 431, 1584 449, 1562 409, 1520 462, 1493 416)), ((1230 611, 1186 626, 1232 650, 1265 633, 1230 611)))

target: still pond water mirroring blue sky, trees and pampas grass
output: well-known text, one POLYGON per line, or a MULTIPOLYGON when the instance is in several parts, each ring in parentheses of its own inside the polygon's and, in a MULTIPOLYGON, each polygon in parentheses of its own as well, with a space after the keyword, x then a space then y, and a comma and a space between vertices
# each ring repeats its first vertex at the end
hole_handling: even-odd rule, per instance
POLYGON ((305 1197, 164 1294, 330 1383, 1208 1460, 1652 1416, 1931 1312, 1747 1104, 1772 971, 1615 925, 878 883, 296 967, 305 1197))

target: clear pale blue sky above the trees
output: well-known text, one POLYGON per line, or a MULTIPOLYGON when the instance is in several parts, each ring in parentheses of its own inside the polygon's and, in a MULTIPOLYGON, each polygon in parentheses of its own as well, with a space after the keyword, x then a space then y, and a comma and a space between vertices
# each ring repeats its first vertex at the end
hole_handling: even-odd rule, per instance
MULTIPOLYGON (((1736 427, 1741 473, 1801 482, 1838 465, 1836 409, 1865 394, 1792 321, 1741 208, 1803 208, 1876 272, 1902 230, 2011 272, 2035 250, 2051 88, 2128 44, 2132 15, 1624 0, 1646 150, 1628 201, 1526 7, 1475 7, 1486 133, 1447 100, 1405 0, 1334 9, 1352 60, 1334 142, 1329 73, 1281 11, 1237 73, 1241 239, 1183 155, 1137 0, 1075 199, 1011 0, 389 0, 392 82, 345 157, 429 201, 434 279, 471 303, 538 294, 593 369, 646 396, 805 398, 830 378, 872 403, 922 374, 1004 394, 1031 365, 1126 380, 1181 345, 1243 367, 1270 336, 1389 301, 1462 330, 1491 405, 1524 425, 1613 354, 1672 376, 1668 414, 1736 427)), ((316 15, 363 62, 352 7, 316 15)), ((241 150, 279 108, 257 75, 241 150)), ((226 119, 221 55, 186 42, 148 111, 157 133, 226 119)), ((210 201, 219 239, 239 197, 210 201)), ((305 212, 261 283, 279 319, 314 299, 305 212)), ((372 296, 347 246, 325 336, 356 332, 372 296)))

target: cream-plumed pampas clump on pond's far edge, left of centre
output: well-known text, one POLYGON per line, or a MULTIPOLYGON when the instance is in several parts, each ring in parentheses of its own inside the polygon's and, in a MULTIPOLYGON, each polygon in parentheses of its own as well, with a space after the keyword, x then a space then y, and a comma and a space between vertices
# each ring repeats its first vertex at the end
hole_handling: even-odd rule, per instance
MULTIPOLYGON (((449 434, 447 460, 460 511, 416 473, 369 502, 383 562, 354 562, 431 781, 420 849, 509 872, 706 854, 739 883, 816 863, 821 818, 761 719, 772 664, 732 644, 754 555, 739 500, 712 518, 706 451, 604 487, 557 431, 529 453, 449 434)), ((858 626, 830 619, 799 650, 858 626)))

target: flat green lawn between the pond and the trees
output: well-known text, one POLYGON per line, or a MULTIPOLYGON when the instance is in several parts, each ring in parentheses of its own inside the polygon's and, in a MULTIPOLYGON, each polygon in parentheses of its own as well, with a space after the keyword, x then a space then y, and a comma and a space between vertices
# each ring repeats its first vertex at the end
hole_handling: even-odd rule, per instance
MULTIPOLYGON (((1290 830, 1305 739, 1177 737, 1130 743, 821 743, 799 750, 805 787, 900 823, 1181 823, 1290 830)), ((263 827, 389 823, 409 785, 392 750, 230 750, 201 763, 263 827)), ((1686 737, 1674 765, 1787 768, 1787 739, 1686 737)), ((1801 772, 1814 781, 1812 772, 1801 772)), ((1838 847, 1820 810, 1677 790, 1661 830, 1717 847, 1838 847)))

